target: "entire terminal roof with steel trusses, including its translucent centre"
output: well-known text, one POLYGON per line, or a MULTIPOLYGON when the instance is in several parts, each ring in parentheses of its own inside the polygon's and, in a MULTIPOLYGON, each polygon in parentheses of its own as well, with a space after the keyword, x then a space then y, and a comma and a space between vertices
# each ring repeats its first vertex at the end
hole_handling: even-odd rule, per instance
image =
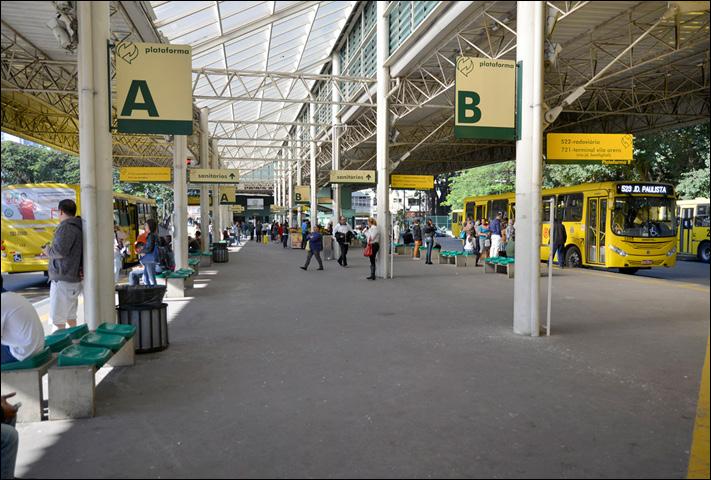
MULTIPOLYGON (((547 131, 640 134, 708 121, 708 8, 685 6, 663 18, 668 3, 661 1, 547 5, 547 40, 559 53, 546 69, 545 102, 562 107, 547 131), (586 84, 582 95, 563 104, 586 84)), ((218 138, 227 165, 257 172, 278 158, 315 75, 330 71, 330 54, 359 6, 112 2, 112 33, 117 40, 159 41, 162 35, 193 45, 196 122, 197 108, 210 108, 210 135, 218 138)), ((45 27, 53 10, 51 2, 3 2, 2 126, 76 152, 76 57, 59 49, 45 27)), ((514 59, 515 30, 516 2, 441 2, 391 52, 396 171, 439 173, 513 158, 510 142, 455 139, 451 105, 454 58, 464 52, 514 59)), ((361 98, 342 110, 343 168, 374 167, 375 108, 366 93, 372 84, 362 86, 361 98)), ((331 163, 330 128, 320 125, 316 136, 321 183, 331 163)), ((116 135, 114 142, 118 165, 168 165, 172 159, 163 137, 116 135)), ((197 135, 190 145, 197 153, 197 135)), ((308 160, 308 148, 302 154, 308 160)))

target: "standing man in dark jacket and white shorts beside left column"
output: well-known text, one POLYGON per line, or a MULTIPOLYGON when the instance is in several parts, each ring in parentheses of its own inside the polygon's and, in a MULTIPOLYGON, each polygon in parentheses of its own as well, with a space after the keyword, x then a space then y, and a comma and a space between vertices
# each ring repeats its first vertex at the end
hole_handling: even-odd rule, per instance
POLYGON ((84 243, 81 218, 76 216, 74 200, 62 200, 58 210, 60 223, 44 253, 49 257, 49 320, 55 329, 63 329, 65 324, 77 325, 84 243))

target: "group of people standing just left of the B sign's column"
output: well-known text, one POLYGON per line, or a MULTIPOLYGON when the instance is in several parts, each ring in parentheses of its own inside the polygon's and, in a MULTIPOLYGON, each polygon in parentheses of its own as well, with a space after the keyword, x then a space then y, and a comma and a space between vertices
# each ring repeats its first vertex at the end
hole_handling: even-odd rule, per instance
POLYGON ((507 257, 514 256, 516 230, 514 220, 504 217, 498 212, 496 217, 489 221, 486 218, 467 220, 462 229, 464 237, 464 251, 476 255, 475 266, 479 260, 489 257, 498 257, 502 254, 507 257))

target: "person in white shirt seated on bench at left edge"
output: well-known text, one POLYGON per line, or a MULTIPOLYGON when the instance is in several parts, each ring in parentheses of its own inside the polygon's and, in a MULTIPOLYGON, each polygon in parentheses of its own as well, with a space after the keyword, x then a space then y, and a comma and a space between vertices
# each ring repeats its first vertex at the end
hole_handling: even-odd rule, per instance
POLYGON ((2 293, 2 363, 21 362, 44 348, 39 315, 25 297, 2 293))

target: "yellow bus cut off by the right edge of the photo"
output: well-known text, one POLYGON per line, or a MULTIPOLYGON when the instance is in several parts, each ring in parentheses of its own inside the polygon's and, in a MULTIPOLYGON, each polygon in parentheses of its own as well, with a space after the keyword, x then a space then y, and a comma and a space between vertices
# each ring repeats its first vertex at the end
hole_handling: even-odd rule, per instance
POLYGON ((676 218, 679 225, 679 253, 695 255, 708 263, 709 252, 709 202, 708 198, 676 201, 676 218))

